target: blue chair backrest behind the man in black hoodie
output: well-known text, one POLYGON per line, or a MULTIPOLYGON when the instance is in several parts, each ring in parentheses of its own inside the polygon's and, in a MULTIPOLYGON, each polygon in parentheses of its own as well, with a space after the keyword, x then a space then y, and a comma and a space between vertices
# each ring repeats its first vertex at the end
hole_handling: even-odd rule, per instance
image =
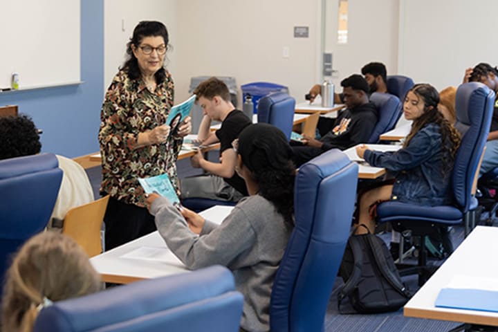
POLYGON ((386 131, 391 130, 389 127, 394 119, 398 117, 400 100, 396 95, 390 93, 374 92, 370 95, 370 101, 375 105, 378 113, 377 124, 372 131, 368 143, 377 143, 379 136, 386 131))

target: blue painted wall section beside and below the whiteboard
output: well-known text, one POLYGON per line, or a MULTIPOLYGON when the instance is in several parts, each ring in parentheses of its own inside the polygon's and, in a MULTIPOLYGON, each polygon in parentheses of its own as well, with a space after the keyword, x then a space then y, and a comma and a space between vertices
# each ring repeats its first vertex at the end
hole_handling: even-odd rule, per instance
MULTIPOLYGON (((104 91, 104 0, 80 1, 84 83, 0 93, 0 105, 17 104, 19 113, 27 114, 43 129, 42 151, 69 158, 98 151, 104 91)), ((64 46, 64 41, 54 43, 64 46)))

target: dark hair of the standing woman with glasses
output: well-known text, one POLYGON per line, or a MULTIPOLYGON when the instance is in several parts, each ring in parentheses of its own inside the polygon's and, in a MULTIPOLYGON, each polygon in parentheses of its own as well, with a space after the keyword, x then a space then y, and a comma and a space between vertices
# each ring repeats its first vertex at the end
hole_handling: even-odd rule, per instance
MULTIPOLYGON (((131 46, 138 47, 142 42, 144 37, 163 37, 165 41, 165 46, 169 50, 169 35, 164 24, 158 21, 141 21, 133 30, 133 36, 131 36, 127 44, 127 59, 122 65, 122 69, 127 72, 131 80, 138 80, 142 73, 138 67, 138 60, 133 54, 133 48, 131 46)), ((156 74, 156 83, 163 83, 166 77, 166 71, 164 67, 161 67, 156 74)))

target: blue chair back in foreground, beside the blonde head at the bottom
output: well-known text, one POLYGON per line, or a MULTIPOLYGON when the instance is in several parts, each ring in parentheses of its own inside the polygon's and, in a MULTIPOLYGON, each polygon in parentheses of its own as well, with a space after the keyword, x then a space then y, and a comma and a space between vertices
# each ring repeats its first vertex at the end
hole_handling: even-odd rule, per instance
POLYGON ((230 270, 211 266, 55 302, 33 332, 237 332, 242 306, 230 270))

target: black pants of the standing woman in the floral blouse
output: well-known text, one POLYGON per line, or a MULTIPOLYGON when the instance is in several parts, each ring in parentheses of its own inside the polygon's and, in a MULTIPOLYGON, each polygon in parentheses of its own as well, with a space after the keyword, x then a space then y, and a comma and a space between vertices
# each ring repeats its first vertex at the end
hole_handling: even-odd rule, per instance
POLYGON ((109 198, 104 215, 105 250, 111 250, 131 240, 154 232, 156 222, 147 208, 109 198))

